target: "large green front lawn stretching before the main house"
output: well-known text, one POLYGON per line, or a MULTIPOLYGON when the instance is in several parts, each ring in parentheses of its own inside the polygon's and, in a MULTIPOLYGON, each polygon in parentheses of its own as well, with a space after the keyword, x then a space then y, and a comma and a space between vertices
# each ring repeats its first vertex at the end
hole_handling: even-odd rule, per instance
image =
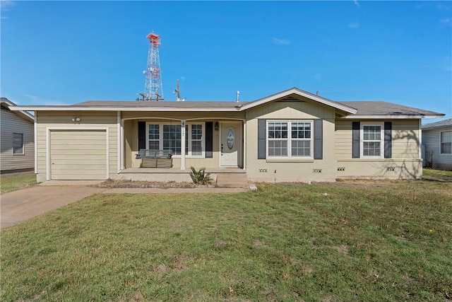
POLYGON ((1 231, 1 301, 448 301, 452 182, 96 194, 1 231))

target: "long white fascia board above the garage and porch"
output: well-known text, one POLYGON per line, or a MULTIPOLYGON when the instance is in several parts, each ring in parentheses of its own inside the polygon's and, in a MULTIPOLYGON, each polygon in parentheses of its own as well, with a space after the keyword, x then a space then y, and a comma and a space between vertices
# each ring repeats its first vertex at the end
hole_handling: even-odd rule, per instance
POLYGON ((239 112, 240 108, 130 108, 130 107, 11 107, 11 110, 28 110, 28 111, 173 111, 173 112, 196 112, 196 111, 218 111, 218 112, 239 112))

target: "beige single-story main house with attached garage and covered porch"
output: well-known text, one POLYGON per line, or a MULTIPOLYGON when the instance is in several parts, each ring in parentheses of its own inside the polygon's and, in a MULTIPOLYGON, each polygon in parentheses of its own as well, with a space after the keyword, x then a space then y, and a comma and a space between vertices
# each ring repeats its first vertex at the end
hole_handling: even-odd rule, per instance
POLYGON ((35 111, 38 182, 185 181, 191 166, 261 182, 421 178, 421 119, 444 116, 387 102, 335 102, 298 88, 252 102, 11 109, 35 111), (172 168, 144 167, 141 149, 170 151, 172 168))

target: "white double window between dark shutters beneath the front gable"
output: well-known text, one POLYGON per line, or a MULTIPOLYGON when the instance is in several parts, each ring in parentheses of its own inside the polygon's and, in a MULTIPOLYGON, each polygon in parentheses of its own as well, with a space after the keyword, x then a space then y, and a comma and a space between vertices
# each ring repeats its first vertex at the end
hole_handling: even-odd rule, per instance
POLYGON ((268 121, 267 156, 311 157, 312 122, 268 121))

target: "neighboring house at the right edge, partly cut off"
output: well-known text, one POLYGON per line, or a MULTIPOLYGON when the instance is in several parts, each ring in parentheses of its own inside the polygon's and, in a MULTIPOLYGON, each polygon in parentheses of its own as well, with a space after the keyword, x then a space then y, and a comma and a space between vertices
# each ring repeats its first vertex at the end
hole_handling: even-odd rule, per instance
POLYGON ((452 170, 452 119, 422 125, 424 166, 452 170))

